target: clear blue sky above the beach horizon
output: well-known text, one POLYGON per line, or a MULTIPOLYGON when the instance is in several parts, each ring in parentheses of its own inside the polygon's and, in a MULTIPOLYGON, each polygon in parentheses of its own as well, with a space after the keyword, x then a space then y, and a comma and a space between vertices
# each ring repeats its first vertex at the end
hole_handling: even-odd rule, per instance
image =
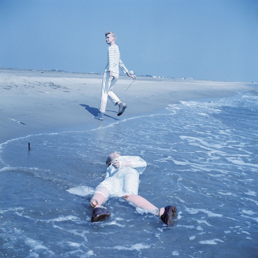
POLYGON ((258 82, 257 0, 0 0, 0 67, 258 82))

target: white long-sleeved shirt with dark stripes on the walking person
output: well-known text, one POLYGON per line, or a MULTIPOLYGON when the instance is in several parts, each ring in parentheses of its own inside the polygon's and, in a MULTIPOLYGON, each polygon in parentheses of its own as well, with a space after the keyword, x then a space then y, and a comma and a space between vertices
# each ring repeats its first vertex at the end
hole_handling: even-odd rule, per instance
POLYGON ((114 44, 108 48, 108 60, 104 72, 112 71, 113 73, 119 74, 119 68, 123 73, 128 72, 120 59, 119 48, 116 44, 114 44))

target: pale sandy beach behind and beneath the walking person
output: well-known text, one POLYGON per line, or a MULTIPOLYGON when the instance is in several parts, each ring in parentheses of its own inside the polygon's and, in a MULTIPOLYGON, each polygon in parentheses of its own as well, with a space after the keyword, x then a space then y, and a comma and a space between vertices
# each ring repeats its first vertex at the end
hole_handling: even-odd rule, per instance
POLYGON ((122 116, 110 101, 99 111, 102 74, 0 69, 0 143, 42 133, 87 131, 144 114, 166 112, 179 101, 214 101, 250 89, 250 83, 120 76, 115 93, 127 104, 122 116))

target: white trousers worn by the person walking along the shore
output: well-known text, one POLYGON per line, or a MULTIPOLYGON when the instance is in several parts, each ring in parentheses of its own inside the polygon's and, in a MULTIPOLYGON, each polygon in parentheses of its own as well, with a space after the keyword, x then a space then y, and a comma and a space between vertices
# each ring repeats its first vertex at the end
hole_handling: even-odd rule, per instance
POLYGON ((116 105, 118 101, 118 97, 113 93, 113 89, 115 87, 115 83, 118 79, 119 74, 112 74, 115 78, 109 76, 109 72, 104 72, 103 80, 102 80, 102 89, 101 89, 101 99, 100 99, 100 112, 105 113, 107 99, 109 98, 111 102, 116 105))

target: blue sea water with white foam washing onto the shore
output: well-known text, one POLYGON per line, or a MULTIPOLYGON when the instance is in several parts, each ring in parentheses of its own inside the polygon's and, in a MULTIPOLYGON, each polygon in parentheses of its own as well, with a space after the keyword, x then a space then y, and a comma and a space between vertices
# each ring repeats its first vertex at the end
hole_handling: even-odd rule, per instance
POLYGON ((0 256, 258 257, 257 113, 254 88, 1 144, 0 256), (146 160, 139 194, 175 204, 173 227, 121 198, 105 203, 111 217, 91 223, 92 192, 113 151, 146 160))

